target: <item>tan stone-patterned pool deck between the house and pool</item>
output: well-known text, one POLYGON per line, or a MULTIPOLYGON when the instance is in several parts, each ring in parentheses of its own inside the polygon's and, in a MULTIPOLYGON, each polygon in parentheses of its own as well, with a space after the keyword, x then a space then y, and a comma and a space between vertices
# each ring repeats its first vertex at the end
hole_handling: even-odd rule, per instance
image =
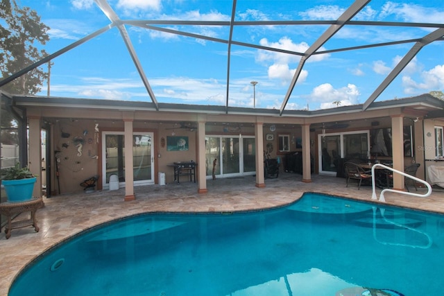
MULTIPOLYGON (((347 188, 345 179, 323 175, 313 175, 312 180, 311 183, 303 183, 301 175, 282 173, 278 179, 265 180, 266 187, 259 189, 255 186, 255 177, 219 178, 207 180, 206 194, 197 193, 198 185, 194 182, 139 186, 135 187, 136 200, 130 202, 123 201, 125 189, 44 198, 45 206, 37 211, 40 232, 35 233, 33 227, 13 229, 7 240, 2 229, 0 296, 8 295, 10 284, 17 273, 35 256, 69 236, 117 218, 157 211, 230 212, 265 209, 298 200, 305 192, 372 201, 371 186, 361 186, 361 190, 358 190, 357 183, 350 180, 347 188)), ((379 192, 377 189, 378 197, 379 192)), ((424 194, 426 190, 418 189, 418 193, 424 194)), ((444 214, 443 191, 434 191, 427 198, 398 193, 386 193, 385 198, 385 204, 444 214)), ((21 218, 17 217, 17 220, 21 218)))

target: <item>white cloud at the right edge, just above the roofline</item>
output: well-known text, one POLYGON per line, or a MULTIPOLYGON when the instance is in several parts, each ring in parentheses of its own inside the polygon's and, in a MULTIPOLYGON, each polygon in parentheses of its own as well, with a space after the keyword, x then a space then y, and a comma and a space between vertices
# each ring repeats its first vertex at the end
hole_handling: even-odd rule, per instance
POLYGON ((422 82, 416 82, 411 76, 402 76, 405 94, 419 94, 444 89, 444 64, 438 64, 429 71, 422 71, 422 82))

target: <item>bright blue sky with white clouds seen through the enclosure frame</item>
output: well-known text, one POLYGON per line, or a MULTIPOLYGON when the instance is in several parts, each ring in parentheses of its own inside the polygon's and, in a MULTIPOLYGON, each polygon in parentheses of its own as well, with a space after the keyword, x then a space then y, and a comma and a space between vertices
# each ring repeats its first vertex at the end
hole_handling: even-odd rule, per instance
MULTIPOLYGON (((110 24, 92 0, 19 0, 37 11, 51 28, 45 46, 54 53, 110 24)), ((230 21, 232 1, 109 0, 120 19, 230 21)), ((353 1, 238 0, 236 21, 333 20, 353 1)), ((443 24, 444 1, 373 0, 353 20, 443 24)), ((165 25, 163 28, 227 40, 227 26, 165 25)), ((236 26, 233 40, 304 52, 329 26, 236 26)), ((420 38, 436 28, 348 26, 321 50, 420 38)), ((144 73, 160 103, 225 105, 228 45, 137 26, 126 26, 144 73)), ((339 51, 311 56, 305 63, 286 109, 316 110, 364 103, 413 43, 339 51)), ((229 105, 281 107, 298 55, 232 45, 229 105)), ((53 60, 51 96, 149 101, 119 30, 112 28, 53 60)), ((425 46, 377 98, 444 91, 444 41, 425 46)), ((44 85, 41 95, 46 95, 44 85)))

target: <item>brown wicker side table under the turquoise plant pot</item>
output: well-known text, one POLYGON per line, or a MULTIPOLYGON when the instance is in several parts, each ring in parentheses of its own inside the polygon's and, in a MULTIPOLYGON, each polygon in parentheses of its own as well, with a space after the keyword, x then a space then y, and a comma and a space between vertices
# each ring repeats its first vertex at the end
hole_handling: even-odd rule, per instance
POLYGON ((11 230, 16 228, 22 228, 32 225, 35 232, 39 232, 40 228, 37 226, 35 212, 42 206, 42 198, 31 198, 31 200, 28 200, 26 202, 2 202, 0 204, 0 214, 8 217, 8 225, 6 225, 5 227, 6 239, 10 238, 11 230), (13 215, 22 214, 26 211, 31 212, 31 218, 12 222, 13 215))

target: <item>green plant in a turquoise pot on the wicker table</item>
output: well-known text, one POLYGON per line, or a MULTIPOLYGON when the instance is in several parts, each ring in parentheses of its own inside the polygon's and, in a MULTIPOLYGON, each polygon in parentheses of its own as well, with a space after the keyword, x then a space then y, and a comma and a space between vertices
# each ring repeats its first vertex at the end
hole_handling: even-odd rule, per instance
POLYGON ((8 202, 25 202, 33 197, 35 175, 17 162, 11 168, 1 171, 1 184, 5 188, 8 202))

